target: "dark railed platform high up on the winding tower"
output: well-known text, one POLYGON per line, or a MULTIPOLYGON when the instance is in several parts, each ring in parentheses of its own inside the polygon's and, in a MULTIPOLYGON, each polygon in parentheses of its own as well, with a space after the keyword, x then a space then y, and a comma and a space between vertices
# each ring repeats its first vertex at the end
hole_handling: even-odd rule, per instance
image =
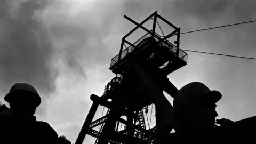
POLYGON ((163 73, 168 75, 187 65, 188 54, 186 52, 177 49, 174 44, 167 40, 159 42, 160 39, 158 34, 152 36, 147 33, 133 45, 123 50, 120 60, 118 60, 120 54, 111 59, 109 69, 115 74, 123 74, 127 60, 139 59, 148 65, 161 68, 163 73))

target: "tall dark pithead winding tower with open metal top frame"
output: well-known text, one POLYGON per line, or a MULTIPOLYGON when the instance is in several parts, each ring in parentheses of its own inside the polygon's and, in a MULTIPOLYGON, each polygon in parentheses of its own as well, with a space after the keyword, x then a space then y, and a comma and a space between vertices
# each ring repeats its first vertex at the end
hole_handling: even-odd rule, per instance
POLYGON ((95 143, 98 144, 152 143, 157 137, 156 133, 170 133, 173 129, 173 108, 163 91, 174 97, 178 90, 167 75, 187 65, 188 55, 179 46, 180 28, 157 12, 141 23, 126 15, 124 18, 136 27, 122 38, 119 54, 111 59, 109 69, 116 77, 106 85, 101 97, 91 95, 93 104, 76 144, 83 143, 86 134, 97 138, 95 143), (148 30, 143 24, 150 19, 153 20, 153 27, 148 30), (160 36, 156 33, 158 19, 167 23, 172 30, 170 34, 160 36), (127 41, 126 38, 138 28, 145 30, 146 34, 134 43, 127 41), (167 40, 169 38, 173 42, 167 40), (147 130, 143 108, 151 104, 156 109, 156 126, 147 130), (99 105, 108 108, 107 114, 92 122, 99 105), (122 116, 126 116, 126 119, 122 116), (119 130, 120 123, 125 125, 123 130, 119 130), (93 130, 93 127, 99 125, 99 131, 93 130))

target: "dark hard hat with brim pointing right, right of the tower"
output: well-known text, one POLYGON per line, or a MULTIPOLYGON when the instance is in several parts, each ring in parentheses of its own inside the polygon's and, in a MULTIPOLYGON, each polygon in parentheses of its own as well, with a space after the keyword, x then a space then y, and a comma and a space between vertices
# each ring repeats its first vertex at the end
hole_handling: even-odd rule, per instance
POLYGON ((174 113, 191 106, 191 104, 199 100, 216 103, 221 97, 222 95, 219 91, 211 91, 206 85, 200 82, 191 82, 183 86, 175 95, 173 100, 174 113))

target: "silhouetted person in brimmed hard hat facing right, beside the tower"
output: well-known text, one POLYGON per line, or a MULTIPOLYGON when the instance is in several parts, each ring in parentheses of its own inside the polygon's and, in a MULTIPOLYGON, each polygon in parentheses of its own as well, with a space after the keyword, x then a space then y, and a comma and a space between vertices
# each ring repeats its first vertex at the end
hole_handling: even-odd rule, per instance
MULTIPOLYGON (((214 143, 214 123, 218 116, 215 103, 221 97, 219 91, 211 91, 203 83, 183 86, 173 100, 175 133, 164 135, 156 143, 214 143)), ((221 119, 219 122, 232 121, 221 119)))

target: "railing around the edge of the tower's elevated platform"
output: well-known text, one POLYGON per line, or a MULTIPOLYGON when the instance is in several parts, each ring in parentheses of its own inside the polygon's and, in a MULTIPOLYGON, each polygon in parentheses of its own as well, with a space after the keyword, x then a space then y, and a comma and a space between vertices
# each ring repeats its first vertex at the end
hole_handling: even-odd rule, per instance
MULTIPOLYGON (((156 42, 159 42, 160 35, 158 35, 157 33, 155 33, 155 34, 157 36, 155 36, 154 39, 156 40, 156 42)), ((152 35, 150 33, 147 33, 144 36, 142 36, 140 39, 138 39, 136 42, 134 42, 133 45, 136 47, 140 42, 142 42, 144 39, 149 38, 149 37, 152 37, 152 35)), ((177 57, 177 47, 175 45, 173 45, 171 42, 163 41, 163 42, 160 42, 159 45, 168 47, 171 50, 171 52, 177 57)), ((134 51, 135 47, 130 45, 125 50, 123 50, 122 53, 121 53, 120 61, 123 60, 132 51, 134 51)), ((186 52, 179 49, 179 58, 181 58, 186 63, 187 63, 187 55, 188 54, 186 52)), ((118 62, 118 57, 119 57, 119 54, 117 54, 113 59, 111 59, 110 68, 113 67, 118 62)))

